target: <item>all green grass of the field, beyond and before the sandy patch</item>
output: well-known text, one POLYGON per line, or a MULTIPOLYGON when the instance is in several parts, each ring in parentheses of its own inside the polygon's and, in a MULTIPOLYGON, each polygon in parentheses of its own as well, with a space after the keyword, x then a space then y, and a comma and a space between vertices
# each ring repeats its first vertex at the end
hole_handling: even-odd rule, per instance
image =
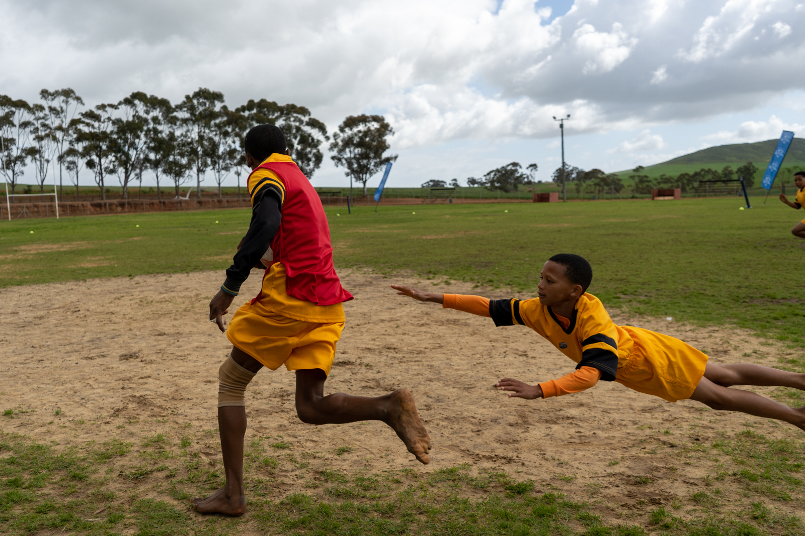
MULTIPOLYGON (((802 213, 774 199, 766 207, 752 201, 758 207, 744 211, 737 210, 738 199, 711 198, 423 205, 384 207, 378 213, 359 208, 352 215, 328 210, 328 218, 341 268, 389 275, 415 272, 425 285, 471 281, 479 293, 489 287, 529 293, 548 256, 577 252, 593 265, 590 291, 610 306, 701 325, 740 325, 805 346, 799 297, 805 242, 788 232, 802 213)), ((0 222, 0 286, 74 279, 91 285, 93 277, 208 269, 221 270, 223 279, 249 219, 247 210, 228 210, 0 222)), ((800 370, 797 362, 786 363, 800 370)), ((802 403, 801 395, 797 391, 792 400, 802 403)), ((6 410, 2 419, 10 422, 18 413, 6 410)), ((98 423, 81 420, 72 426, 98 423)), ((222 472, 201 464, 186 448, 216 434, 180 428, 175 436, 143 436, 142 452, 136 456, 134 444, 121 440, 99 438, 81 448, 58 450, 2 434, 0 526, 5 534, 20 535, 66 530, 241 534, 242 520, 211 517, 198 522, 166 501, 113 489, 119 474, 137 482, 155 473, 165 476, 164 489, 178 501, 204 496, 221 486, 222 472), (122 460, 134 468, 119 473, 122 460)), ((261 441, 255 438, 246 448, 247 475, 257 467, 306 463, 280 456, 278 448, 284 447, 279 443, 261 441)), ((589 497, 539 490, 534 481, 519 481, 518 475, 502 471, 473 476, 464 466, 433 473, 321 471, 316 485, 325 490, 327 501, 307 495, 270 501, 270 481, 250 476, 251 527, 266 534, 312 535, 803 534, 799 518, 776 503, 769 507, 758 499, 735 509, 725 504, 718 487, 725 477, 740 477, 746 497, 759 493, 767 502, 791 501, 792 486, 802 485, 795 477, 802 467, 799 440, 767 439, 747 430, 720 434, 712 445, 676 450, 679 464, 710 467, 712 462, 716 469, 704 470, 716 471, 715 486, 691 496, 700 511, 697 518, 680 517, 682 503, 675 499, 650 509, 646 529, 634 525, 634 519, 606 521, 589 497)))

